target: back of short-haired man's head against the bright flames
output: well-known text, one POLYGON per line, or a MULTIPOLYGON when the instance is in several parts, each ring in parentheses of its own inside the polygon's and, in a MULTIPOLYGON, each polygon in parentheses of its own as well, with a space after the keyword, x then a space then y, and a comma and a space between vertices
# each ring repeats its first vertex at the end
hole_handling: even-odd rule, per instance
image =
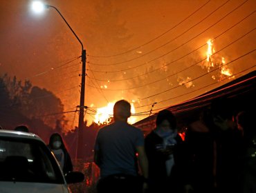
POLYGON ((127 121, 131 116, 131 105, 125 100, 117 101, 113 106, 113 119, 115 121, 127 121))

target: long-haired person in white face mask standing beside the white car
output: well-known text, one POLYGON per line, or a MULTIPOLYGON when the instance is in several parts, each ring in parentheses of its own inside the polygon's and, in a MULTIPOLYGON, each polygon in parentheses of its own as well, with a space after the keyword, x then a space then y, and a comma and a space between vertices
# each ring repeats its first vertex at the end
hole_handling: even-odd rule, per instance
POLYGON ((54 133, 51 135, 48 147, 55 155, 64 174, 73 171, 71 156, 69 156, 60 134, 54 133))

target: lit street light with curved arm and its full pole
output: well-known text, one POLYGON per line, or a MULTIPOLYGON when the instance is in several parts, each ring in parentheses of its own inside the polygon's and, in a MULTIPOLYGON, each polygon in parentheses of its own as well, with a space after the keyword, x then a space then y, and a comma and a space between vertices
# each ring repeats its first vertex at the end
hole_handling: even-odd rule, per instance
POLYGON ((60 14, 60 17, 65 21, 66 25, 68 28, 73 32, 75 35, 76 39, 79 41, 79 43, 82 46, 82 80, 81 80, 81 93, 80 93, 80 113, 79 113, 79 122, 78 122, 78 147, 77 147, 77 159, 82 159, 83 156, 83 150, 82 150, 82 141, 83 141, 83 135, 82 135, 82 128, 84 128, 84 92, 85 92, 85 76, 86 76, 86 50, 84 50, 84 45, 82 44, 82 41, 77 37, 77 34, 73 31, 71 26, 69 26, 68 22, 66 19, 63 17, 61 12, 55 8, 54 6, 46 5, 42 3, 42 1, 33 1, 32 3, 32 9, 34 12, 37 13, 42 13, 46 8, 53 8, 55 9, 58 14, 60 14))

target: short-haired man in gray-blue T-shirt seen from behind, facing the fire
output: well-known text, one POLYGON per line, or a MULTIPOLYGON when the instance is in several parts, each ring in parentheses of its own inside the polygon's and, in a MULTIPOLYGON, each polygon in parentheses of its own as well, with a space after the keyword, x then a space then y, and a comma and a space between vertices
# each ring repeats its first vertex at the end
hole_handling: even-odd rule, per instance
POLYGON ((148 163, 143 132, 127 123, 131 105, 118 101, 114 123, 100 129, 95 142, 95 163, 100 167, 98 192, 142 192, 147 189, 148 163), (144 183, 138 178, 137 157, 144 183), (141 185, 140 185, 141 184, 141 185))

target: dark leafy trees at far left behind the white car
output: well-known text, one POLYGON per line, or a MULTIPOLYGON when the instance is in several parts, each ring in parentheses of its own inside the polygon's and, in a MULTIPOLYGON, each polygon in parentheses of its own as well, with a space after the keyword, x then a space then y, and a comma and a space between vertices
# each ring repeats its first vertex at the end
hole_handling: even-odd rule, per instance
MULTIPOLYGON (((16 123, 19 124, 41 120, 51 128, 64 128, 66 125, 65 116, 61 113, 64 105, 57 96, 46 89, 33 87, 30 81, 22 83, 16 77, 10 78, 8 74, 0 77, 0 108, 9 119, 14 119, 16 116, 16 123)), ((12 128, 15 126, 17 125, 13 125, 12 128)))

